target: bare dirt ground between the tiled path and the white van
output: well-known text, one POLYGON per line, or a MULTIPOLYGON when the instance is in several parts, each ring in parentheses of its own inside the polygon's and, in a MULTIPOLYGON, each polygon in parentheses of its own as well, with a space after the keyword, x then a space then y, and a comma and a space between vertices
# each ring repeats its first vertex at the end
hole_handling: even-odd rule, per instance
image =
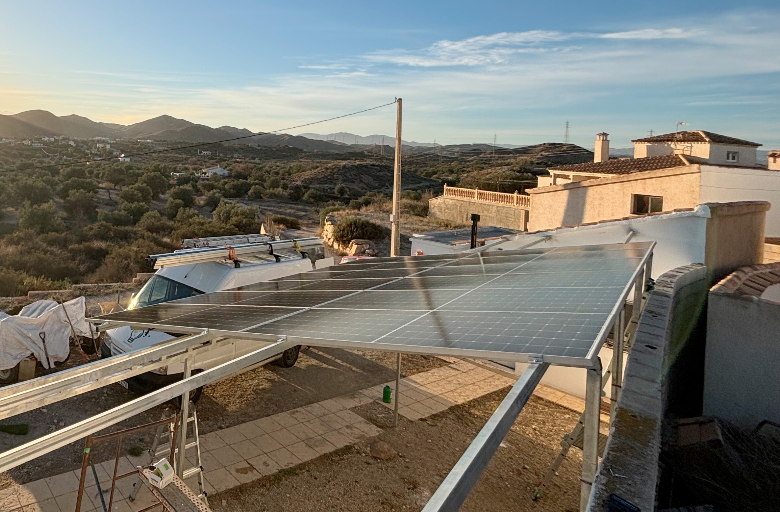
MULTIPOLYGON (((69 360, 62 365, 58 364, 58 367, 72 367, 79 361, 79 354, 72 349, 69 360)), ((402 373, 413 375, 445 364, 447 363, 438 357, 404 354, 402 373)), ((40 370, 41 368, 39 372, 40 370)), ((392 379, 395 379, 395 354, 369 350, 312 348, 301 353, 293 368, 268 364, 263 368, 206 386, 198 403, 200 432, 207 433, 239 425, 270 414, 377 386, 392 379)), ((136 397, 114 384, 7 418, 2 420, 3 425, 27 424, 29 432, 27 436, 11 436, 0 432, 0 451, 45 436, 66 425, 73 425, 136 397)), ((175 412, 176 407, 172 404, 163 404, 122 421, 102 433, 157 421, 164 415, 168 417, 175 412)), ((127 453, 127 450, 133 447, 146 449, 151 445, 153 436, 153 432, 144 436, 128 436, 123 445, 124 451, 127 453)), ((0 489, 14 483, 32 482, 79 468, 82 450, 83 440, 2 473, 0 489)), ((112 459, 115 456, 115 444, 97 445, 92 453, 96 462, 112 459)))

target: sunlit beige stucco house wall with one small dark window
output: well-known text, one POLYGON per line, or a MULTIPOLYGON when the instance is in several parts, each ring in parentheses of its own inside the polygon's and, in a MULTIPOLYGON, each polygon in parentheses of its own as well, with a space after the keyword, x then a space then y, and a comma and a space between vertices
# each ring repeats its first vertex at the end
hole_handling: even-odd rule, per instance
POLYGON ((701 202, 699 190, 698 165, 530 189, 528 230, 626 217, 631 215, 632 194, 663 197, 665 211, 694 208, 701 202))

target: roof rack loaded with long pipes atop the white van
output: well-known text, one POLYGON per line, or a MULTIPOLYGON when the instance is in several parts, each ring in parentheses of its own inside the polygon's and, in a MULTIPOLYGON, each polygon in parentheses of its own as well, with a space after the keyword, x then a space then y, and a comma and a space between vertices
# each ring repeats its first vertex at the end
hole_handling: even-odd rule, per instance
MULTIPOLYGON (((223 247, 198 247, 192 249, 180 249, 179 251, 168 252, 164 254, 151 254, 150 256, 147 256, 147 261, 155 269, 220 260, 232 261, 233 264, 238 267, 242 258, 260 256, 262 254, 269 254, 274 256, 276 261, 280 261, 281 258, 279 258, 279 254, 276 254, 274 251, 284 251, 289 249, 293 249, 293 251, 300 253, 301 258, 307 258, 308 253, 306 250, 317 247, 324 247, 324 240, 313 236, 311 238, 267 241, 259 242, 257 244, 236 244, 225 245, 223 247)), ((293 252, 293 254, 295 253, 293 252)), ((292 254, 290 254, 290 256, 292 256, 292 254)))

